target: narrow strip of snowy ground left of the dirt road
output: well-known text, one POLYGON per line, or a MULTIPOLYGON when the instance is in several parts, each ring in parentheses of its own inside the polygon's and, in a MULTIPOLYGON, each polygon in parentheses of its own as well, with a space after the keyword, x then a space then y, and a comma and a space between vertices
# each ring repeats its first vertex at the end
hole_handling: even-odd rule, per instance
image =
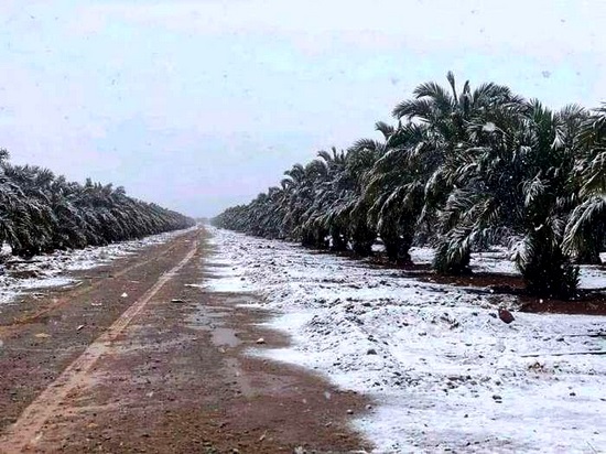
POLYGON ((4 261, 19 261, 8 267, 0 266, 0 305, 12 301, 20 293, 32 289, 45 289, 73 284, 74 280, 65 275, 66 271, 87 270, 112 260, 134 253, 137 250, 161 242, 181 235, 184 230, 147 238, 116 242, 101 247, 89 247, 69 251, 55 251, 53 253, 35 256, 31 260, 22 260, 17 257, 7 257, 4 261))

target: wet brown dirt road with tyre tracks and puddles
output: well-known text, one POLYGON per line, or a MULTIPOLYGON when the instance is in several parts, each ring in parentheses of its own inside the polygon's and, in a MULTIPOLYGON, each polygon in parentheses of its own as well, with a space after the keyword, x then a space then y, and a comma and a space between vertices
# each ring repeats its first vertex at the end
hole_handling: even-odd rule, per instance
POLYGON ((198 229, 0 307, 0 452, 351 452, 368 403, 245 354, 288 345, 208 293, 198 229), (126 296, 125 296, 126 295, 126 296), (262 346, 256 340, 264 338, 262 346))

